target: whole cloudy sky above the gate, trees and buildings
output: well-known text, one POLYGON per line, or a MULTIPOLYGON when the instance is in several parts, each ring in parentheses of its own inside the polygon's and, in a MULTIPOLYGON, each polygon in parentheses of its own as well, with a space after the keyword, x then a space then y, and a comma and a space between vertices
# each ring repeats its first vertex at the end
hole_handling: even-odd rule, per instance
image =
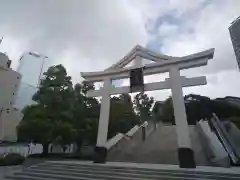
MULTIPOLYGON (((137 44, 171 56, 215 48, 207 67, 182 72, 206 75, 208 85, 184 93, 240 96, 228 32, 239 10, 239 0, 0 0, 0 51, 14 69, 26 51, 45 54, 77 82, 81 71, 103 70, 137 44)), ((170 92, 150 94, 163 100, 170 92)))

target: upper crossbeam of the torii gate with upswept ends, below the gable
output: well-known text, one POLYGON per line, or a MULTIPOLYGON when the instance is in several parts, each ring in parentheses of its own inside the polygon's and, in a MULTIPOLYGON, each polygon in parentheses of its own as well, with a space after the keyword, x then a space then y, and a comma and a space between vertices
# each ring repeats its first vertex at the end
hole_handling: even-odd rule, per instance
MULTIPOLYGON (((207 65, 209 59, 213 58, 214 49, 209 49, 200 53, 184 56, 175 60, 151 63, 144 66, 144 75, 152 75, 169 71, 170 67, 175 66, 178 69, 188 69, 207 65)), ((128 78, 129 71, 135 67, 111 69, 108 71, 82 72, 81 75, 86 80, 92 82, 109 79, 128 78)))

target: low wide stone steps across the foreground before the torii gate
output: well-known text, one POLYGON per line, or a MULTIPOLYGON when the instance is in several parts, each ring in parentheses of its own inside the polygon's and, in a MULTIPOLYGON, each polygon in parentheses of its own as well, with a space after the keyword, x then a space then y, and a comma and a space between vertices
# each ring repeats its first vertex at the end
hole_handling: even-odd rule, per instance
MULTIPOLYGON (((221 171, 221 170, 220 170, 221 171)), ((114 163, 93 164, 91 162, 61 161, 44 162, 8 175, 13 180, 237 180, 240 174, 203 172, 187 169, 158 169, 141 164, 114 163)))

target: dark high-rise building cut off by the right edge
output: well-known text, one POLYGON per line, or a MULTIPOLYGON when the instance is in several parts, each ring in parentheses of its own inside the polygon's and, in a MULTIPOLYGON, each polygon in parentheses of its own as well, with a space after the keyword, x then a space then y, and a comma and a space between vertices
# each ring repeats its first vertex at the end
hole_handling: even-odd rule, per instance
POLYGON ((240 16, 231 23, 229 32, 236 55, 238 68, 240 69, 240 16))

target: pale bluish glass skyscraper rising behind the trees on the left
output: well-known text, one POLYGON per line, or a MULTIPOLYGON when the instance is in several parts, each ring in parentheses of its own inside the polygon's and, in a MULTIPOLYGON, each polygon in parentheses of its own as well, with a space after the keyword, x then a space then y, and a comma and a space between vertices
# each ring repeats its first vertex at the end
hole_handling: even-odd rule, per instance
POLYGON ((32 96, 38 89, 44 61, 47 57, 36 53, 25 53, 19 60, 17 72, 22 80, 15 100, 15 107, 22 110, 25 106, 34 104, 32 96))

